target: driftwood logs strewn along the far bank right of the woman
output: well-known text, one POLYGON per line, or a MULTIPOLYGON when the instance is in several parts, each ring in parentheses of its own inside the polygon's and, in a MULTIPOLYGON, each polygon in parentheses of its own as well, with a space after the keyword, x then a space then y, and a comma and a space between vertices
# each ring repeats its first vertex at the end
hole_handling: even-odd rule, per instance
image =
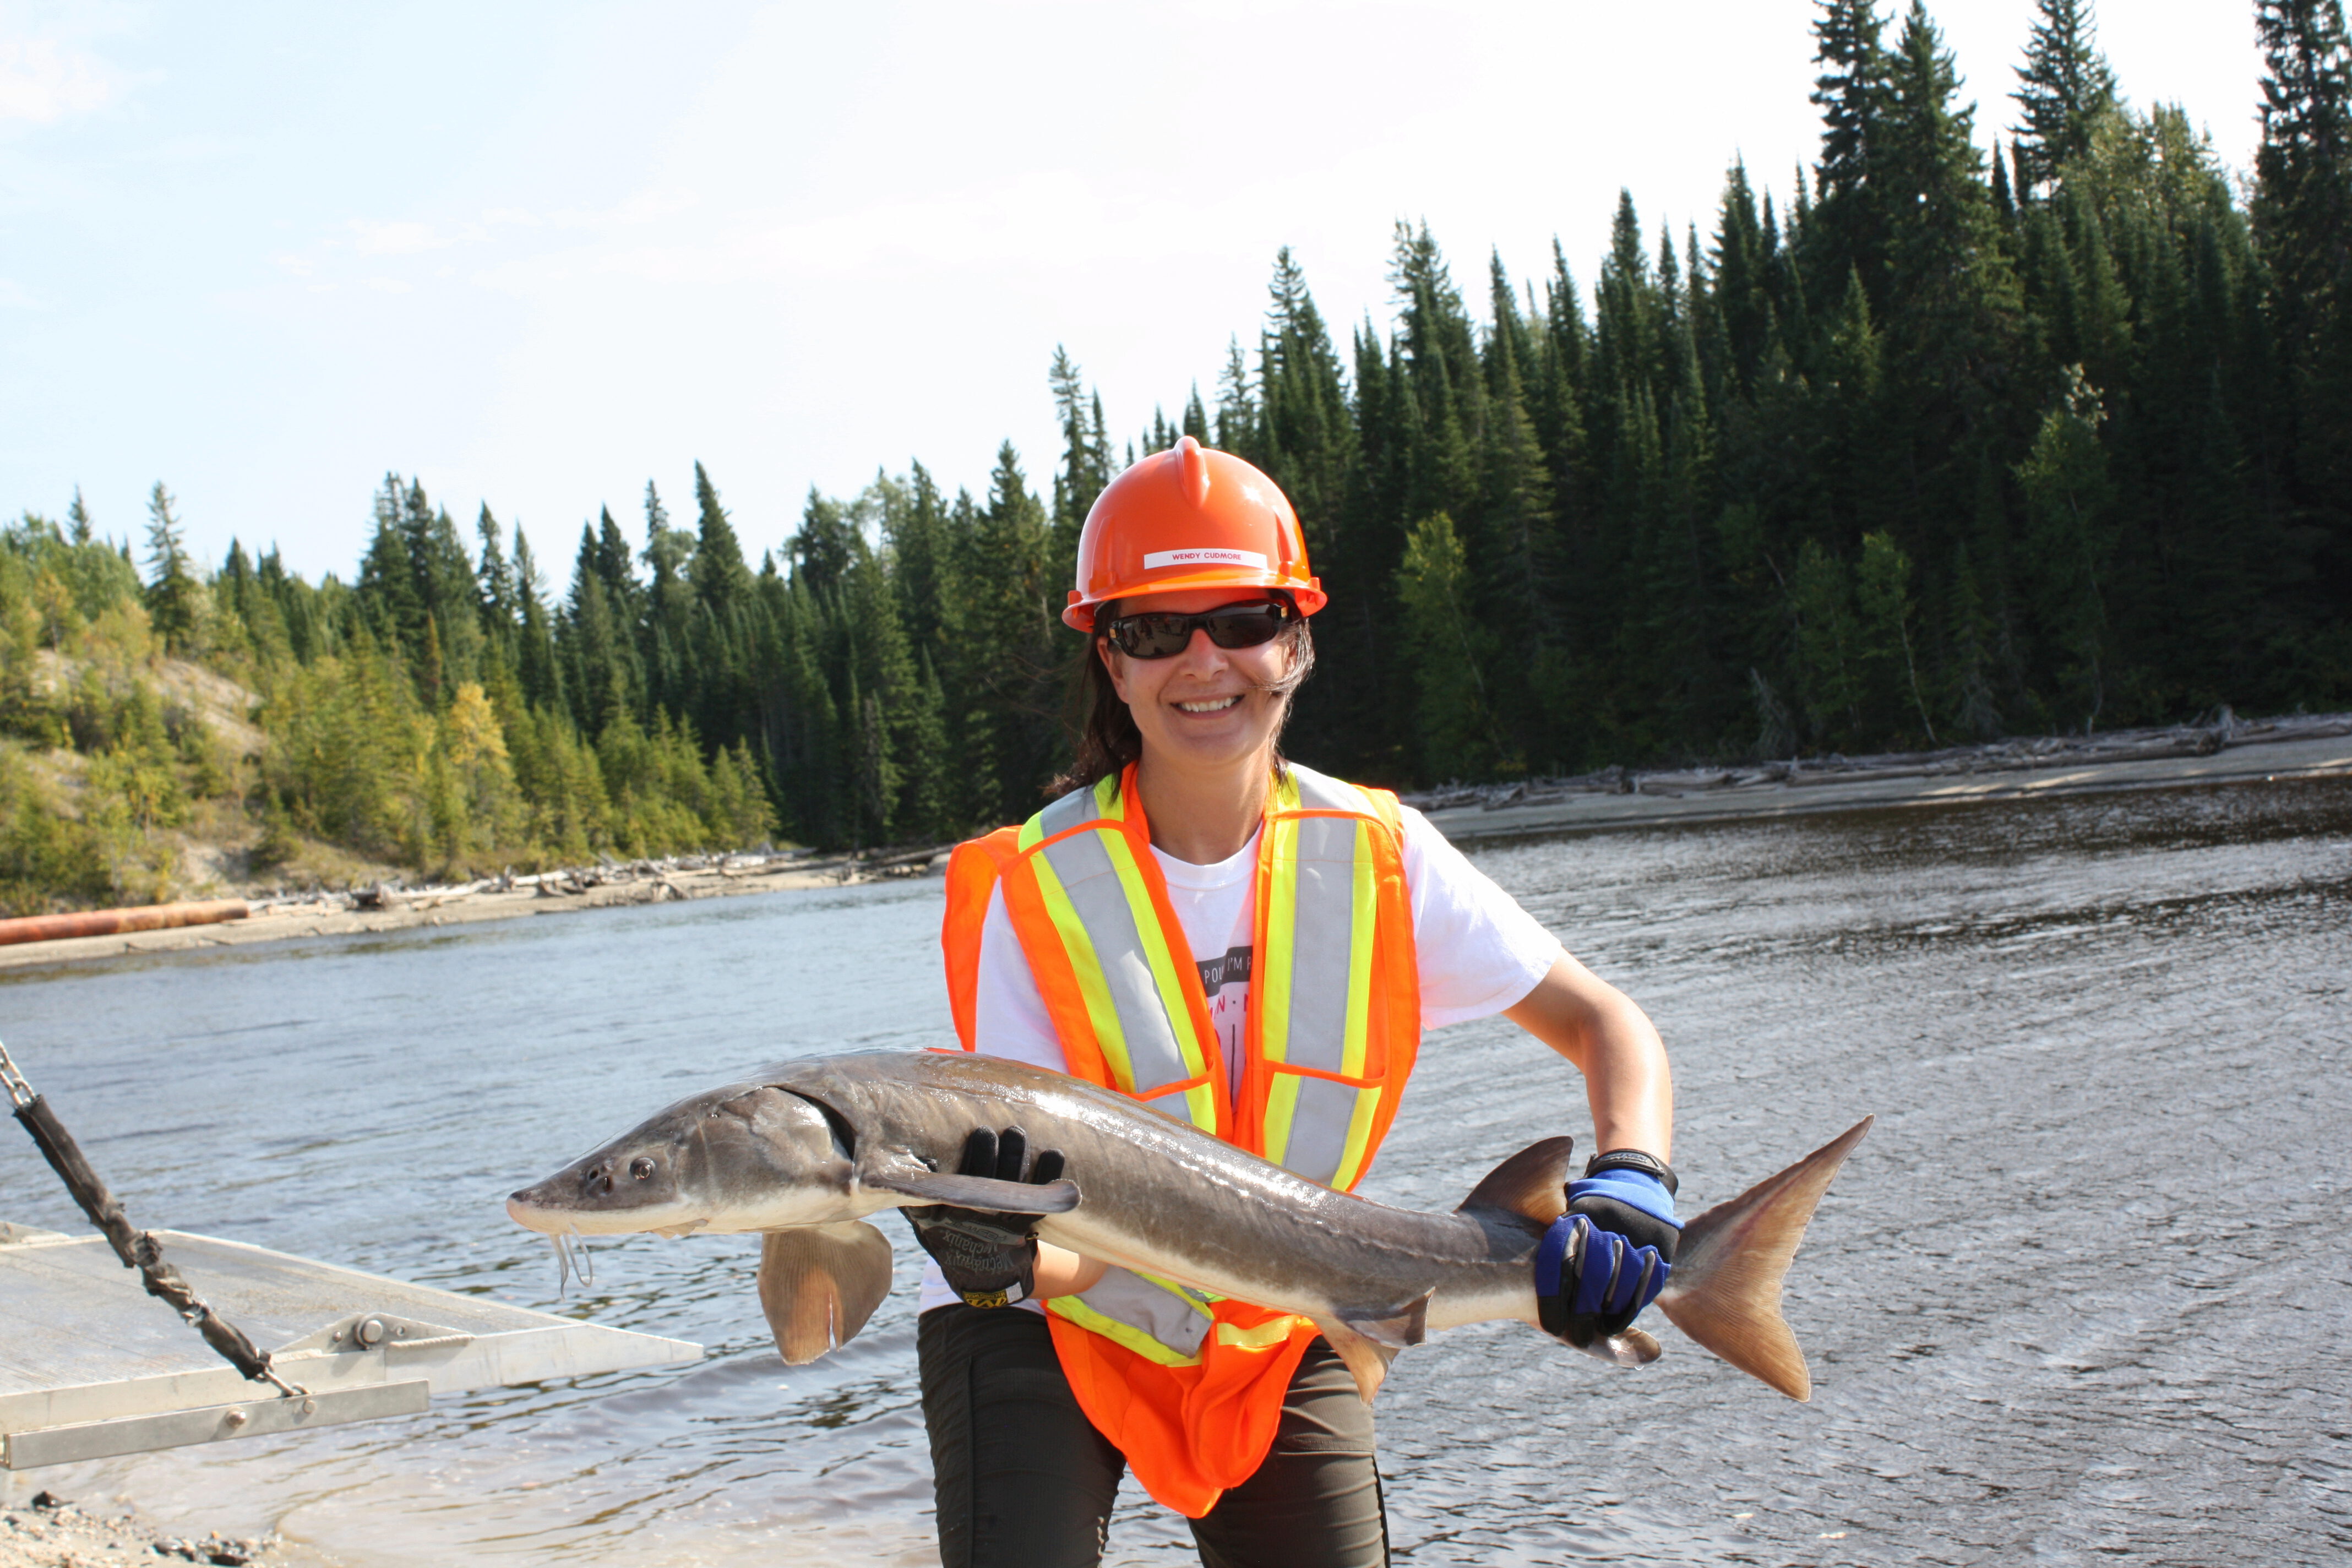
POLYGON ((1454 806, 1538 806, 1576 795, 1696 795, 1743 785, 1823 785, 1870 778, 1943 778, 1959 773, 2016 773, 2027 769, 2074 769, 2107 762, 2152 762, 2159 757, 2213 757, 2239 745, 2274 745, 2284 741, 2321 741, 2352 736, 2352 715, 2314 712, 2277 719, 2239 719, 2227 708, 2209 722, 2166 729, 2114 729, 2098 736, 2039 736, 2032 741, 1990 741, 1985 745, 1947 745, 1933 752, 1884 752, 1877 757, 1792 757, 1788 762, 1748 762, 1715 769, 1637 771, 1609 766, 1573 778, 1519 778, 1491 785, 1442 785, 1404 795, 1421 811, 1454 806))

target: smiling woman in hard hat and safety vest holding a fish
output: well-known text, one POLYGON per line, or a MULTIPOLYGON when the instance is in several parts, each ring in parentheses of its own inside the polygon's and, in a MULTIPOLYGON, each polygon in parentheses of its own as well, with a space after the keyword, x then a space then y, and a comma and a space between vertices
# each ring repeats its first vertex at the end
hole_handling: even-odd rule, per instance
MULTIPOLYGON (((1538 1251, 1543 1326, 1613 1333, 1675 1251, 1665 1048, 1418 811, 1282 759, 1322 607, 1249 463, 1183 437, 1110 482, 1063 611, 1091 637, 1065 792, 948 870, 957 1032, 1348 1190, 1421 1030, 1505 1013, 1585 1074, 1602 1150, 1538 1251)), ((1007 1128, 964 1168, 1049 1180, 1061 1157, 1007 1128)), ((948 1568, 1098 1563, 1127 1469, 1211 1568, 1388 1561, 1371 1410, 1312 1324, 1018 1215, 910 1218, 943 1265, 917 1338, 948 1568)))

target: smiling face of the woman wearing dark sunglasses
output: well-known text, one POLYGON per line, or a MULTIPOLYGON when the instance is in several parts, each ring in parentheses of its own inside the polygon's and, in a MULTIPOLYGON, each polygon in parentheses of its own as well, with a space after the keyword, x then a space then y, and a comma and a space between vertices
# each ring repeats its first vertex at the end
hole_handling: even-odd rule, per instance
MULTIPOLYGON (((1120 599, 1117 614, 1174 611, 1197 616, 1225 604, 1258 604, 1268 595, 1235 588, 1155 592, 1120 599)), ((1287 639, 1254 649, 1221 649, 1192 628, 1192 642, 1169 658, 1129 658, 1096 642, 1127 710, 1143 731, 1143 755, 1183 769, 1261 764, 1282 729, 1287 696, 1268 691, 1291 670, 1287 639)))

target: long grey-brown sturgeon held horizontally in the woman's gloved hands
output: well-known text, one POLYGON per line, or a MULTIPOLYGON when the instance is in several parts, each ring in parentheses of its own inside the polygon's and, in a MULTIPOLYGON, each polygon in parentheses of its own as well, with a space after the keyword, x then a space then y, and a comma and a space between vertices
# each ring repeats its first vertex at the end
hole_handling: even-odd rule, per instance
MULTIPOLYGON (((1780 1281, 1813 1206, 1870 1117, 1682 1227, 1658 1309, 1790 1399, 1811 1396, 1780 1281)), ((788 1363, 849 1342, 889 1293, 868 1215, 913 1204, 1035 1213, 1037 1234, 1141 1274, 1315 1321, 1371 1403, 1390 1359, 1435 1328, 1536 1314, 1534 1253, 1566 1211, 1569 1138, 1534 1143, 1454 1213, 1334 1192, 1129 1095, 962 1051, 783 1063, 659 1112, 515 1192, 506 1211, 557 1239, 762 1232, 760 1305, 788 1363), (1061 1150, 1047 1185, 955 1175, 974 1128, 1061 1150)), ((1628 1328, 1578 1345, 1656 1361, 1628 1328)))

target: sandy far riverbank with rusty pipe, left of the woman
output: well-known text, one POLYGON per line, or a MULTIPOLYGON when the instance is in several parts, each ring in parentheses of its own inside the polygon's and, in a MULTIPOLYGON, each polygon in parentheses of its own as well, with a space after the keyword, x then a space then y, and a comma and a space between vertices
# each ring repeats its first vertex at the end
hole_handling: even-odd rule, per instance
POLYGON ((746 853, 670 856, 574 865, 539 877, 487 877, 454 886, 376 884, 346 893, 301 893, 249 900, 245 919, 75 936, 56 943, 0 947, 0 971, 115 959, 127 952, 188 952, 198 947, 249 947, 308 936, 360 936, 414 926, 463 926, 482 919, 616 910, 640 903, 689 898, 736 898, 790 889, 851 886, 889 877, 920 877, 936 849, 880 851, 868 856, 746 853))

